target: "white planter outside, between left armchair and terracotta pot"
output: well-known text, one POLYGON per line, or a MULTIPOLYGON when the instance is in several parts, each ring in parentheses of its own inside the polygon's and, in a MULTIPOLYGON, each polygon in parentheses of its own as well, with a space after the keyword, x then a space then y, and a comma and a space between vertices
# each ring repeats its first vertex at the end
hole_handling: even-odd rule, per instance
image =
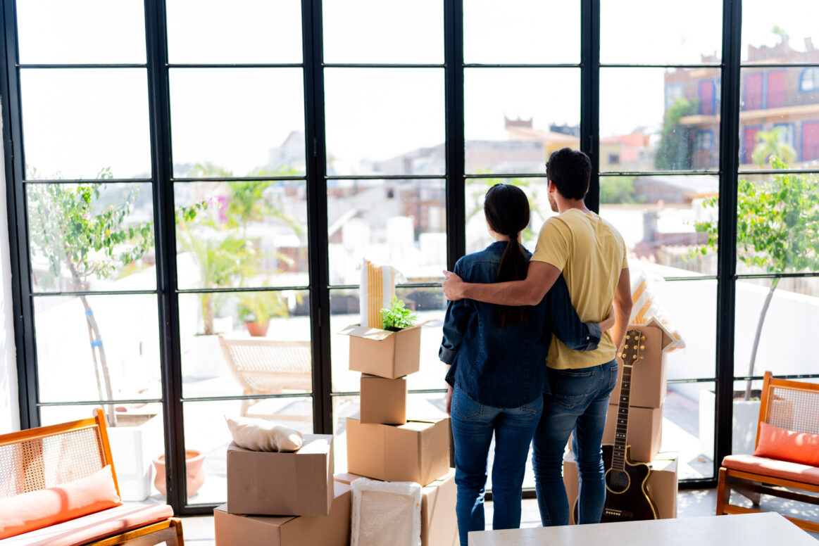
POLYGON ((120 497, 127 501, 147 499, 151 494, 152 458, 165 453, 161 418, 119 414, 117 426, 107 431, 120 497))

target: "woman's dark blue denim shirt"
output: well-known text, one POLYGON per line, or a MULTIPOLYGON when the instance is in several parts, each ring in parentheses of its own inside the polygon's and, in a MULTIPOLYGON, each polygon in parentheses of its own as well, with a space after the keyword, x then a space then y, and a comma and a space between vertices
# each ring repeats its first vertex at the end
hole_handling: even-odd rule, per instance
MULTIPOLYGON (((465 282, 495 282, 506 241, 465 255, 455 274, 465 282)), ((525 250, 525 249, 524 249, 525 250)), ((532 254, 525 250, 527 259, 532 254)), ((549 392, 546 355, 552 332, 572 350, 595 350, 600 326, 582 323, 561 275, 540 304, 527 306, 527 323, 500 327, 497 306, 474 300, 450 301, 438 358, 450 364, 446 382, 493 408, 518 408, 549 392)))

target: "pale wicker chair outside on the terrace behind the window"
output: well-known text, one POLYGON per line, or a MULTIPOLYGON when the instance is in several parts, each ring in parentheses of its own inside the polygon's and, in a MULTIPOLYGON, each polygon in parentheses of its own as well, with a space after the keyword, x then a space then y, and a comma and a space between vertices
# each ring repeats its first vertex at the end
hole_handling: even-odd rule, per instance
MULTIPOLYGON (((276 341, 265 338, 219 336, 224 359, 244 395, 277 395, 284 390, 313 389, 310 341, 276 341)), ((258 399, 242 400, 242 417, 310 421, 310 415, 283 413, 250 415, 258 399)))

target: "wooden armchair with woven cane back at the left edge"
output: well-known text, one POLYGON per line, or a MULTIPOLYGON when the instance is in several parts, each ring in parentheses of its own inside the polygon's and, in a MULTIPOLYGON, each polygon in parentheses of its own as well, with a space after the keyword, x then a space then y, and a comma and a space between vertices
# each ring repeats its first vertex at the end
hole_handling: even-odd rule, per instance
MULTIPOLYGON (((0 435, 0 499, 66 485, 106 465, 111 465, 119 494, 101 409, 89 419, 0 435)), ((0 539, 0 545, 147 546, 164 542, 167 546, 182 546, 182 521, 173 515, 167 505, 122 504, 0 539)))

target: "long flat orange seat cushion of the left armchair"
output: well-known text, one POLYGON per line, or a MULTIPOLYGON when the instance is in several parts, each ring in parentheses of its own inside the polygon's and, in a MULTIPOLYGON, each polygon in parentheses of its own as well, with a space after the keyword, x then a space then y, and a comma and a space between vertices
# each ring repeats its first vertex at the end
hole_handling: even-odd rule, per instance
POLYGON ((77 544, 88 544, 157 521, 165 521, 173 515, 174 510, 167 504, 138 506, 123 504, 122 506, 102 510, 102 512, 78 517, 75 520, 63 521, 44 529, 12 536, 10 539, 0 539, 0 546, 76 546, 77 544))

